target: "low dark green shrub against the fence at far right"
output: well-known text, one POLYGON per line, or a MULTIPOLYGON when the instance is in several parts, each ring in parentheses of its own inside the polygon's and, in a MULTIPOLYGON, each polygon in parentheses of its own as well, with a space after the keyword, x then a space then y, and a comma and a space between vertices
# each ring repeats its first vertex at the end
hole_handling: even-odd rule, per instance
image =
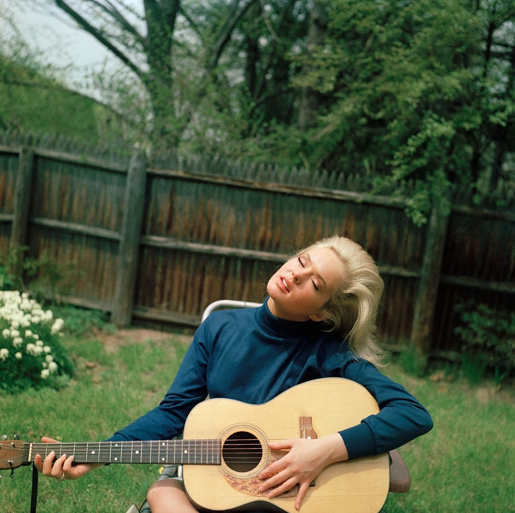
POLYGON ((462 325, 454 334, 462 343, 468 375, 481 375, 490 367, 498 382, 509 376, 515 367, 515 312, 475 303, 458 305, 456 311, 462 325))

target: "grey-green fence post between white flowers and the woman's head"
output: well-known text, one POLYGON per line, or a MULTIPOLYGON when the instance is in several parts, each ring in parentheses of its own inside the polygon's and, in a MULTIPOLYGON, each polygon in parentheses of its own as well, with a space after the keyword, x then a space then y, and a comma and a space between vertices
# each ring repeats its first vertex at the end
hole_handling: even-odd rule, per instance
POLYGON ((118 327, 129 326, 132 319, 146 178, 145 154, 133 155, 127 171, 124 217, 111 314, 111 321, 118 327))

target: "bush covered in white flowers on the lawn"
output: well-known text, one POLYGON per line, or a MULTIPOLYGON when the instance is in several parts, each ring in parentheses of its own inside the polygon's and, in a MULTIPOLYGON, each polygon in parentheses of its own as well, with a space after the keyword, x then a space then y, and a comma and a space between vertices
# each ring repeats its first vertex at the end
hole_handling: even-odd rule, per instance
POLYGON ((63 325, 28 294, 0 291, 0 389, 55 387, 72 375, 60 341, 63 325))

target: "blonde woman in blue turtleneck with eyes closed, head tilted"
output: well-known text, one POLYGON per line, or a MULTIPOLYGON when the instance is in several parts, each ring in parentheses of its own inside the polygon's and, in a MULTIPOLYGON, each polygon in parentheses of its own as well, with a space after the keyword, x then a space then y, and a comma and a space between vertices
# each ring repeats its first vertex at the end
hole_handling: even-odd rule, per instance
MULTIPOLYGON (((179 372, 158 407, 110 440, 168 440, 179 436, 192 408, 210 398, 263 404, 297 384, 344 377, 374 396, 380 411, 351 428, 318 439, 270 443, 288 450, 258 476, 269 498, 299 485, 300 509, 308 486, 328 465, 381 454, 433 427, 425 408, 378 370, 383 357, 374 341, 383 280, 370 255, 344 237, 323 239, 289 259, 269 279, 259 308, 213 312, 198 328, 179 372)), ((53 441, 44 438, 43 441, 53 441)), ((73 455, 36 465, 43 474, 75 479, 95 465, 73 464, 73 455)), ((152 513, 193 513, 178 479, 153 484, 152 513)))

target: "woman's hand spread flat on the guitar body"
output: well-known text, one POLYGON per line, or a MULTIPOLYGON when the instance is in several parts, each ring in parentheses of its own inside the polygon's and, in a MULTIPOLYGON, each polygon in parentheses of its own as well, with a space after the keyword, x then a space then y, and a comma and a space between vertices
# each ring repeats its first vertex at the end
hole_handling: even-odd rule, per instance
POLYGON ((272 499, 299 485, 295 500, 297 510, 318 474, 328 465, 349 457, 338 433, 317 439, 291 438, 268 445, 272 451, 288 453, 260 473, 258 478, 266 480, 260 486, 260 492, 269 490, 268 498, 272 499))

